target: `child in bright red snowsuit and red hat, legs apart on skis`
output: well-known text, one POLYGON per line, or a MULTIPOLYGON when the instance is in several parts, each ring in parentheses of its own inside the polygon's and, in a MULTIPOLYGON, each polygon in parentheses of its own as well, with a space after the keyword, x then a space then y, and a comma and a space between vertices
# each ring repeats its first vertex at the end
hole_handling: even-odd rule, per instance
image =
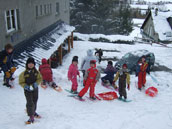
POLYGON ((95 89, 97 81, 100 78, 100 72, 96 68, 96 61, 95 60, 90 61, 90 66, 91 66, 91 68, 89 68, 86 71, 86 74, 84 76, 84 85, 85 85, 85 87, 78 94, 78 97, 80 99, 82 99, 84 94, 88 91, 89 87, 90 87, 90 98, 93 99, 93 100, 96 99, 95 94, 94 94, 94 89, 95 89))

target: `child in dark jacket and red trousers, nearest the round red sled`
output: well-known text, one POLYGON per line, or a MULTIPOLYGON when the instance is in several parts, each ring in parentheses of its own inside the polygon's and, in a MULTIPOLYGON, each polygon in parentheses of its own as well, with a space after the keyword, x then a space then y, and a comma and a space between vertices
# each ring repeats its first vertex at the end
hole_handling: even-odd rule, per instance
POLYGON ((138 76, 138 89, 139 90, 142 89, 142 86, 145 87, 147 69, 148 69, 148 63, 146 62, 146 57, 143 56, 141 58, 141 61, 139 61, 136 66, 136 76, 138 76))

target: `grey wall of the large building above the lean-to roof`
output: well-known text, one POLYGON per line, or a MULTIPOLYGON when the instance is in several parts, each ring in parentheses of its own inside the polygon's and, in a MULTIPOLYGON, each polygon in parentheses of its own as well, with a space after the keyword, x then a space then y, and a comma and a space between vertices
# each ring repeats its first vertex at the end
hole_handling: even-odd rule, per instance
POLYGON ((69 15, 69 0, 1 0, 0 50, 6 43, 16 45, 59 20, 69 24, 69 15), (5 12, 13 9, 18 10, 18 30, 7 32, 5 12))

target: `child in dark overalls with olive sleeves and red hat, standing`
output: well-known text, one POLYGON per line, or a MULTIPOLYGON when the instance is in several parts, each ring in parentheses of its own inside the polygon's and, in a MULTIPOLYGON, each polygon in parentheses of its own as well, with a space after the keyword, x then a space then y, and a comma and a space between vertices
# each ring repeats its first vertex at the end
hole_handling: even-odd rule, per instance
POLYGON ((130 90, 130 74, 127 69, 127 64, 123 64, 122 69, 120 69, 116 73, 116 77, 114 78, 114 84, 119 78, 119 99, 124 97, 124 100, 127 99, 127 92, 126 92, 126 83, 128 84, 127 88, 130 90))

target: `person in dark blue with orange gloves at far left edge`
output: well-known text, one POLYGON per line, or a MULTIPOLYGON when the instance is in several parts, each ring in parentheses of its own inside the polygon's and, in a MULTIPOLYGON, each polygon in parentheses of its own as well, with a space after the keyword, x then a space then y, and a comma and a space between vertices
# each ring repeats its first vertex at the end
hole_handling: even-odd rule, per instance
POLYGON ((4 85, 12 88, 9 81, 13 81, 12 77, 16 71, 16 67, 13 62, 13 52, 14 48, 11 44, 5 45, 5 50, 0 52, 0 67, 4 72, 4 85))

